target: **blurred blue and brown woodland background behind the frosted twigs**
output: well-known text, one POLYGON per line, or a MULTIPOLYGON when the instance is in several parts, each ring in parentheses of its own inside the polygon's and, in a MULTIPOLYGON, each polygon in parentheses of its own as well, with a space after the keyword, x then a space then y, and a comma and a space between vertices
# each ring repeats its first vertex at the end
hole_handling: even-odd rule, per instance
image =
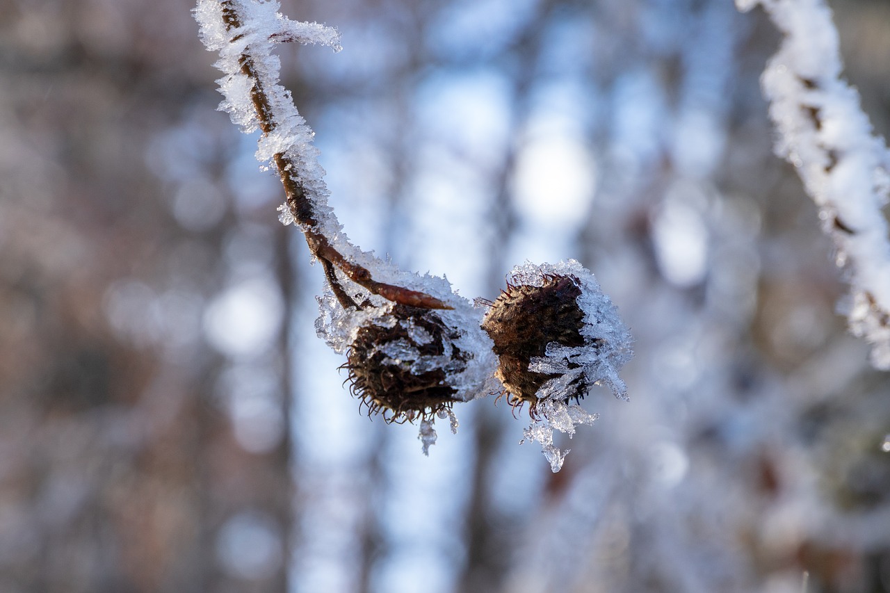
MULTIPOLYGON (((890 4, 833 0, 890 132, 890 4)), ((493 298, 577 258, 635 334, 562 472, 494 398, 421 454, 314 335, 322 271, 190 0, 0 0, 0 591, 890 591, 890 382, 772 154, 728 0, 282 0, 362 248, 493 298)))

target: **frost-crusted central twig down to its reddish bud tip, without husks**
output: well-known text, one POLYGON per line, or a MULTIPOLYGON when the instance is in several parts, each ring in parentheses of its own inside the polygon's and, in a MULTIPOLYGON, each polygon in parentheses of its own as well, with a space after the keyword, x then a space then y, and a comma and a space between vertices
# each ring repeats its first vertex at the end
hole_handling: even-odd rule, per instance
POLYGON ((220 53, 216 67, 223 70, 220 90, 225 95, 223 109, 245 132, 259 128, 257 158, 271 163, 278 172, 287 195, 283 223, 298 224, 306 236, 312 255, 320 260, 325 276, 344 308, 360 308, 344 290, 336 270, 348 280, 401 305, 425 309, 449 309, 441 299, 404 286, 375 280, 360 263, 360 250, 341 231, 327 204, 328 189, 324 171, 312 147, 312 130, 291 101, 290 93, 279 85, 280 62, 271 54, 275 41, 317 43, 339 49, 335 29, 318 23, 287 20, 278 2, 255 0, 198 0, 195 10, 201 25, 201 39, 207 49, 220 53))

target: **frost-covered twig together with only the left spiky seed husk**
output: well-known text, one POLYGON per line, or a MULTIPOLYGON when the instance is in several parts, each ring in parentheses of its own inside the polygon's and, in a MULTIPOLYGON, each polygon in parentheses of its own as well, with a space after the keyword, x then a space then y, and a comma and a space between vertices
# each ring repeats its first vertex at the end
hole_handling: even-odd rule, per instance
POLYGON ((340 49, 336 29, 295 22, 276 0, 198 0, 195 17, 207 49, 219 53, 220 105, 245 133, 262 134, 256 158, 275 170, 287 202, 282 223, 303 231, 327 280, 316 329, 347 354, 352 393, 368 413, 388 421, 420 419, 426 452, 435 418, 457 419, 454 402, 487 392, 493 372, 481 311, 451 290, 448 280, 404 272, 354 246, 331 207, 314 133, 279 85, 275 44, 296 41, 340 49))

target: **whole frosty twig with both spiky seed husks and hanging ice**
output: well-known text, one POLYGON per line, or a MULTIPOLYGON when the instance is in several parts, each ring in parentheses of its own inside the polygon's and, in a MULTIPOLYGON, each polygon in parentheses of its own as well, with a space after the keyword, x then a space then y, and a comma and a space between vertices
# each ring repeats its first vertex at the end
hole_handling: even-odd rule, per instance
POLYGON ((401 271, 352 245, 328 206, 314 133, 279 85, 280 61, 271 53, 289 41, 339 50, 340 38, 278 10, 277 0, 198 0, 195 15, 201 40, 220 55, 220 109, 244 132, 262 132, 256 158, 278 173, 287 196, 279 219, 303 231, 322 264, 327 285, 316 329, 346 354, 352 394, 368 414, 419 419, 427 453, 435 418, 448 418, 456 431, 455 403, 501 391, 514 410, 529 403, 526 439, 540 442, 558 471, 565 453, 553 431, 572 435, 596 418, 570 400, 596 385, 626 397, 618 373, 631 338, 615 307, 573 260, 516 268, 502 296, 473 305, 444 278, 401 271))

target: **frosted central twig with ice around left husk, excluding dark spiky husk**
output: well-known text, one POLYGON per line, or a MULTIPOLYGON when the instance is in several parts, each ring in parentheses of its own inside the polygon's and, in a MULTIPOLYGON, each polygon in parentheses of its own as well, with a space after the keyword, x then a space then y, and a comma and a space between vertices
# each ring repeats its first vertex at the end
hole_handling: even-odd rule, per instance
MULTIPOLYGON (((214 64, 224 74, 217 80, 224 97, 220 109, 243 132, 262 131, 256 158, 263 167, 277 171, 287 192, 287 202, 278 208, 279 220, 301 228, 312 255, 325 267, 328 282, 325 295, 319 298, 316 322, 320 337, 344 353, 360 327, 384 326, 392 320, 393 302, 435 309, 450 329, 449 342, 444 344, 446 356, 433 360, 406 350, 401 354, 412 361, 411 371, 419 374, 441 367, 458 401, 487 394, 494 359, 490 339, 480 329, 481 310, 457 296, 444 278, 405 272, 360 250, 328 206, 325 172, 312 145, 314 133, 297 112, 290 93, 279 84, 280 61, 271 49, 276 43, 296 41, 339 51, 340 37, 334 28, 288 20, 279 7, 276 0, 198 0, 195 17, 204 45, 220 55, 214 64), (452 372, 447 361, 440 359, 447 358, 453 347, 472 355, 452 372)), ((423 329, 407 329, 417 344, 432 339, 423 329)), ((396 346, 389 345, 398 356, 396 346)), ((457 419, 450 410, 448 416, 456 430, 457 419)), ((433 421, 427 418, 421 423, 425 452, 435 440, 433 421)))

